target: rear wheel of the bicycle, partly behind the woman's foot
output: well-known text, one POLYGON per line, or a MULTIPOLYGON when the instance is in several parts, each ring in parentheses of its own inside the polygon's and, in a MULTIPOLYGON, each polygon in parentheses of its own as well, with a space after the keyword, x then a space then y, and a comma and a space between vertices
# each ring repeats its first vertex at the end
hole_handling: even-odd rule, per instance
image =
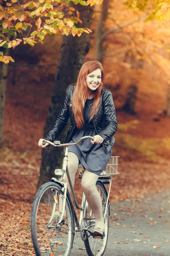
MULTIPOLYGON (((103 215, 104 215, 105 207, 106 207, 105 204, 106 204, 108 194, 105 189, 105 186, 103 185, 103 183, 101 181, 96 182, 96 188, 98 189, 98 191, 101 195, 102 211, 103 211, 103 215)), ((94 214, 91 211, 87 201, 85 202, 85 215, 84 216, 85 216, 85 218, 90 218, 90 219, 94 218, 94 214)), ((105 253, 105 249, 106 249, 107 242, 108 242, 109 209, 106 212, 104 221, 105 221, 105 236, 104 236, 104 238, 93 238, 93 236, 90 236, 87 240, 84 241, 85 249, 88 253, 88 256, 102 256, 105 253)), ((92 223, 92 221, 91 221, 91 223, 92 223)), ((93 232, 93 228, 91 229, 91 232, 93 232)))

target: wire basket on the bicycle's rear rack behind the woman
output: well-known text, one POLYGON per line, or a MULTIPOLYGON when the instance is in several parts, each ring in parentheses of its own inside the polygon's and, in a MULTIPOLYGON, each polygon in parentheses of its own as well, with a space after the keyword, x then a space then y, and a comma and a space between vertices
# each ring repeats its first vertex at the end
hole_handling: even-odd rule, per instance
MULTIPOLYGON (((119 174, 118 172, 118 160, 119 157, 111 157, 111 159, 109 160, 107 166, 105 167, 105 169, 103 170, 103 172, 101 173, 101 175, 116 175, 119 174)), ((84 172, 84 168, 82 166, 82 164, 80 163, 78 166, 78 171, 79 174, 81 175, 84 172)))

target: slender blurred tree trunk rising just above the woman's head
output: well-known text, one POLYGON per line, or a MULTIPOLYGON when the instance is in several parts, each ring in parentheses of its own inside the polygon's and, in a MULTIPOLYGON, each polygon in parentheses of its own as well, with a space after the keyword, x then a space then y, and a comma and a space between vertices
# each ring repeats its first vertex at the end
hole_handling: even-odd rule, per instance
POLYGON ((105 47, 103 46, 103 40, 101 40, 101 37, 106 30, 105 21, 108 17, 108 8, 109 0, 103 0, 101 16, 96 27, 96 60, 100 61, 101 63, 103 61, 103 55, 105 52, 105 47))

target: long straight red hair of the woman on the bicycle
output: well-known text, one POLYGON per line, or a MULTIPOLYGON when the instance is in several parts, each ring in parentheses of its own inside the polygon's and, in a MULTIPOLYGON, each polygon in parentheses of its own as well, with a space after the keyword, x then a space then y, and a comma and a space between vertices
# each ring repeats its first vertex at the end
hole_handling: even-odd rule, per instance
POLYGON ((88 98, 88 86, 86 84, 86 77, 89 73, 93 72, 96 69, 100 69, 102 73, 102 80, 99 87, 94 91, 94 103, 91 109, 91 118, 94 117, 95 113, 99 110, 99 103, 101 98, 101 91, 103 88, 103 79, 105 76, 105 71, 102 64, 99 61, 87 61, 85 62, 77 78, 76 89, 73 94, 73 112, 75 116, 75 121, 77 128, 81 129, 84 125, 83 110, 85 106, 85 101, 88 98))

